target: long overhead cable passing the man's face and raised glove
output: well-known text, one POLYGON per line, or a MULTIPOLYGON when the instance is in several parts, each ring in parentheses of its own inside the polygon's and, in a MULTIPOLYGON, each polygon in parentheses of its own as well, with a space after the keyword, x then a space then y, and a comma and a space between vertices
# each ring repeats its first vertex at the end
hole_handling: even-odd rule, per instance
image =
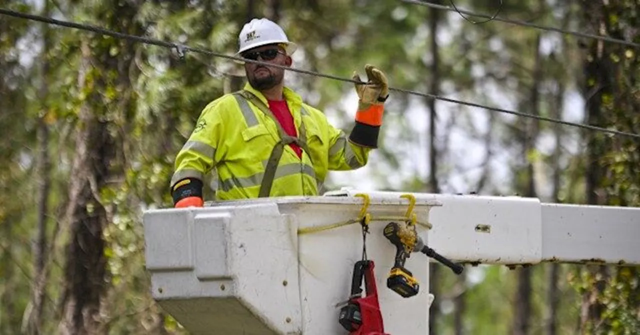
MULTIPOLYGON (((247 62, 247 63, 256 63, 256 64, 260 64, 260 65, 266 65, 266 66, 269 66, 269 67, 276 67, 278 69, 284 69, 284 70, 299 72, 299 73, 303 73, 303 74, 308 74, 310 76, 334 79, 334 80, 337 80, 337 81, 345 81, 345 82, 348 82, 348 83, 362 83, 360 81, 356 81, 356 80, 353 80, 353 79, 350 79, 350 78, 342 78, 342 77, 339 77, 339 76, 333 76, 331 74, 323 74, 323 73, 314 72, 314 71, 310 71, 310 70, 294 69, 292 67, 285 67, 283 65, 267 63, 267 62, 264 62, 264 61, 248 60, 248 59, 241 58, 241 57, 238 57, 238 56, 230 56, 228 54, 216 53, 214 51, 210 51, 210 50, 207 50, 207 49, 189 47, 188 45, 182 45, 182 44, 177 44, 177 43, 173 43, 173 42, 166 42, 166 41, 157 40, 157 39, 154 39, 154 38, 147 38, 147 37, 141 37, 141 36, 136 36, 136 35, 129 35, 129 34, 125 34, 125 33, 118 33, 117 31, 111 31, 111 30, 100 28, 100 27, 97 27, 97 26, 91 26, 89 24, 81 24, 81 23, 76 23, 76 22, 56 20, 56 19, 51 19, 50 17, 44 17, 44 16, 41 16, 41 15, 33 15, 33 14, 28 14, 28 13, 20 13, 20 12, 15 12, 13 10, 7 10, 7 9, 4 9, 4 8, 0 8, 0 14, 12 16, 12 17, 19 17, 20 19, 35 20, 35 21, 44 22, 44 23, 47 23, 47 24, 54 24, 56 26, 64 26, 64 27, 67 27, 67 28, 76 28, 76 29, 80 29, 80 30, 84 30, 84 31, 92 31, 94 33, 99 33, 101 35, 106 35, 106 36, 115 37, 115 38, 122 38, 122 39, 125 39, 125 40, 132 40, 132 41, 140 42, 140 43, 143 43, 143 44, 151 44, 151 45, 158 45, 158 46, 161 46, 161 47, 167 47, 167 48, 170 48, 170 49, 175 49, 177 51, 177 53, 181 57, 184 57, 184 54, 185 54, 186 51, 191 51, 191 52, 194 52, 194 53, 206 54, 208 56, 226 58, 228 60, 244 61, 244 62, 247 62)), ((470 15, 470 14, 467 13, 467 15, 470 15)), ((426 98, 429 98, 429 99, 436 99, 436 100, 441 100, 441 101, 452 102, 452 103, 455 103, 455 104, 463 104, 463 105, 466 105, 466 106, 483 108, 485 110, 497 111, 499 113, 507 113, 507 114, 511 114, 511 115, 518 115, 520 117, 535 118, 535 119, 541 120, 541 121, 555 122, 557 124, 564 124, 566 126, 580 127, 580 128, 584 128, 584 129, 591 129, 593 131, 602 131, 604 133, 610 133, 610 134, 614 134, 614 135, 630 136, 630 137, 633 137, 633 138, 640 138, 640 134, 627 133, 625 131, 619 131, 619 130, 616 130, 616 129, 608 129, 608 128, 599 127, 599 126, 592 126, 590 124, 580 124, 580 123, 577 123, 577 122, 569 122, 569 121, 559 120, 557 118, 542 117, 540 115, 532 115, 532 114, 524 113, 524 112, 521 112, 521 111, 506 110, 506 109, 503 109, 503 108, 496 108, 496 107, 492 107, 492 106, 486 106, 486 105, 483 105, 483 104, 476 104, 474 102, 467 102, 467 101, 461 101, 461 100, 457 100, 457 99, 451 99, 451 98, 447 98, 447 97, 442 97, 440 95, 417 92, 417 91, 414 91, 414 90, 407 90, 407 89, 404 89, 404 88, 389 87, 389 90, 396 91, 396 92, 403 92, 405 94, 418 95, 418 96, 426 97, 426 98)))

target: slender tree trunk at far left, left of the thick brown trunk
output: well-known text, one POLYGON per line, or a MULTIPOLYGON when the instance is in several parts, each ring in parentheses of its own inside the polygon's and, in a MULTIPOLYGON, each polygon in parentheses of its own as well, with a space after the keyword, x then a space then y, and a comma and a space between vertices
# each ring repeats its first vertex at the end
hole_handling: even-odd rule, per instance
MULTIPOLYGON (((45 1, 44 16, 49 16, 49 1, 45 1)), ((42 68, 40 69, 39 97, 41 115, 38 120, 38 229, 35 245, 33 247, 33 264, 35 282, 32 285, 31 314, 29 315, 29 333, 42 334, 42 312, 44 310, 45 286, 47 275, 45 264, 47 263, 47 215, 49 213, 49 190, 51 188, 51 160, 49 159, 49 126, 47 125, 47 78, 49 74, 49 60, 47 53, 51 47, 49 25, 42 24, 42 68)))

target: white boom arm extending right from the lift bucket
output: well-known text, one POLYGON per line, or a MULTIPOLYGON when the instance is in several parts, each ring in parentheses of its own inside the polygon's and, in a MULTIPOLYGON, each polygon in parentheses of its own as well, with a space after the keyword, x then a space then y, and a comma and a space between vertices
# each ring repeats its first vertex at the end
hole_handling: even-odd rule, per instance
MULTIPOLYGON (((328 195, 353 196, 357 190, 328 195)), ((400 192, 370 192, 396 199, 400 192)), ((640 208, 545 204, 536 198, 413 193, 437 200, 428 245, 466 263, 640 265, 640 208)))

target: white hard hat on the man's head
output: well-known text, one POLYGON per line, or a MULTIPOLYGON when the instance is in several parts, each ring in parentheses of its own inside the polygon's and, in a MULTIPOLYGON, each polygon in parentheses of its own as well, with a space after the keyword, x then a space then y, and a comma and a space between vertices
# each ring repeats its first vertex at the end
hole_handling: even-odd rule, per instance
POLYGON ((239 49, 236 55, 260 45, 275 43, 285 44, 285 50, 289 55, 298 49, 298 45, 289 41, 284 30, 269 19, 252 19, 247 24, 244 24, 238 36, 238 42, 239 49))

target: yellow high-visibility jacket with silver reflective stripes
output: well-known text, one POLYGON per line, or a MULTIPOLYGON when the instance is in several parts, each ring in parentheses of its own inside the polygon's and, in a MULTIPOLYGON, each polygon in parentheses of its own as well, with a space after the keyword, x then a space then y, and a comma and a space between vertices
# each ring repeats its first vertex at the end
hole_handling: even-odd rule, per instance
POLYGON ((209 103, 177 154, 172 187, 185 178, 202 181, 216 168, 216 200, 317 195, 329 170, 353 170, 367 163, 372 148, 349 141, 321 111, 286 87, 284 99, 298 138, 283 133, 264 95, 248 83, 244 90, 209 103), (303 148, 301 159, 289 146, 292 142, 303 148), (271 156, 276 147, 280 147, 279 157, 277 149, 271 156), (269 158, 274 165, 271 171, 269 158), (265 177, 269 172, 271 177, 265 177))

